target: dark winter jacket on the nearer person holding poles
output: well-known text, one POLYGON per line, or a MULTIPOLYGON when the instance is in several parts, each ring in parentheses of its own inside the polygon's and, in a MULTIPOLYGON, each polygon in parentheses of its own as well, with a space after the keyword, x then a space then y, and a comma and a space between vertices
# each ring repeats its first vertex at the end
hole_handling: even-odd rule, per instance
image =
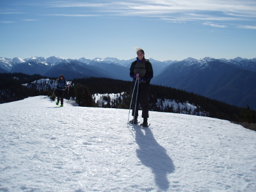
POLYGON ((136 79, 136 74, 140 74, 140 82, 150 83, 151 79, 153 78, 153 68, 149 60, 137 60, 132 62, 130 68, 130 77, 134 80, 136 79))

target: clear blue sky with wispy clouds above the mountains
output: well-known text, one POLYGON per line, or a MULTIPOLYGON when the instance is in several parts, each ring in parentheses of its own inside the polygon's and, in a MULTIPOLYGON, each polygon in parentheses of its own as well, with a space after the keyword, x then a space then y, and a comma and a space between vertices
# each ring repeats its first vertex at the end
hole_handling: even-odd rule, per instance
POLYGON ((0 57, 256 57, 255 0, 0 1, 0 57))

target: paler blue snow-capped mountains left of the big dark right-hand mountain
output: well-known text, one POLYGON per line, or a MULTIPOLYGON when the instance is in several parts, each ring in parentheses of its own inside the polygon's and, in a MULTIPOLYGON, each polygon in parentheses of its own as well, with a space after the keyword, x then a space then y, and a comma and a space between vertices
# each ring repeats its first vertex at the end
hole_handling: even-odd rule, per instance
MULTIPOLYGON (((58 76, 61 71, 63 74, 68 72, 68 76, 73 79, 74 77, 77 78, 77 76, 90 77, 92 74, 89 74, 89 72, 86 73, 85 71, 93 70, 93 76, 95 77, 111 77, 114 79, 128 80, 129 77, 125 77, 123 74, 124 72, 127 73, 127 68, 130 67, 134 60, 136 60, 136 58, 132 58, 131 60, 118 60, 117 58, 95 58, 93 60, 88 58, 79 58, 72 60, 56 56, 51 56, 49 58, 31 57, 25 58, 24 60, 20 58, 0 58, 0 72, 22 72, 30 75, 36 73, 42 76, 56 76, 56 71, 58 70, 58 76), (59 66, 56 67, 57 65, 59 66), (67 70, 67 65, 76 66, 67 70), (84 68, 82 72, 81 67, 84 68), (74 74, 70 74, 70 72, 74 74)), ((175 62, 171 60, 161 62, 153 60, 152 58, 150 58, 150 61, 153 65, 157 65, 157 68, 154 71, 155 75, 170 63, 175 62)))

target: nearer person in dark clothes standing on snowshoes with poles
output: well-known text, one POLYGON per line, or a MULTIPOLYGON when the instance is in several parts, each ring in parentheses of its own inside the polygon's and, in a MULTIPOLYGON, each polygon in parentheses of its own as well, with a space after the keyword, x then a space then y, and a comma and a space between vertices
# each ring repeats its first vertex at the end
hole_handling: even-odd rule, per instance
POLYGON ((148 127, 148 96, 149 96, 149 84, 151 79, 153 78, 153 68, 149 60, 145 59, 145 52, 143 49, 136 48, 137 58, 136 61, 133 61, 130 67, 130 77, 133 78, 132 80, 132 90, 134 86, 134 96, 132 98, 132 116, 133 120, 129 121, 131 124, 138 124, 138 109, 139 104, 142 108, 142 115, 143 118, 143 127, 148 127), (136 83, 136 78, 138 80, 136 83), (138 90, 138 97, 137 97, 137 104, 135 108, 136 102, 136 95, 137 95, 137 86, 139 86, 138 90), (134 115, 135 111, 135 115, 134 115))

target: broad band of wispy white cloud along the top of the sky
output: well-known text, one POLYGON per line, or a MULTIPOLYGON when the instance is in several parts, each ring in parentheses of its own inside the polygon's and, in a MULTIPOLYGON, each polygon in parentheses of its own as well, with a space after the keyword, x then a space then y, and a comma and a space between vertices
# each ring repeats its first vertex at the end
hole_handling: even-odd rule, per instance
POLYGON ((256 1, 254 0, 109 0, 107 3, 103 0, 88 0, 86 2, 75 0, 54 1, 44 4, 44 6, 50 10, 51 8, 60 8, 65 13, 68 9, 69 14, 48 14, 51 16, 145 17, 175 23, 204 21, 202 22, 204 25, 215 28, 228 28, 228 22, 230 26, 254 29, 253 25, 241 22, 255 22, 256 20, 256 1), (72 11, 74 12, 72 13, 72 11), (84 11, 90 12, 90 14, 83 14, 84 11))

